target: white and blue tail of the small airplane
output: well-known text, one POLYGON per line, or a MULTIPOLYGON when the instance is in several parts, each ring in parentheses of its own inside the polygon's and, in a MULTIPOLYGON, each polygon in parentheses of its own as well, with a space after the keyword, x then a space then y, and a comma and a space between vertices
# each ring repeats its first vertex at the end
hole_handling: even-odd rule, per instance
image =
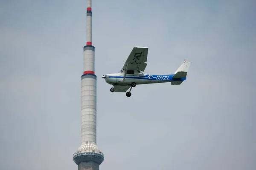
POLYGON ((172 78, 178 78, 180 81, 173 81, 172 85, 179 85, 184 80, 186 80, 186 75, 189 70, 189 66, 192 62, 184 61, 184 63, 181 64, 181 66, 176 70, 174 73, 175 75, 172 78))

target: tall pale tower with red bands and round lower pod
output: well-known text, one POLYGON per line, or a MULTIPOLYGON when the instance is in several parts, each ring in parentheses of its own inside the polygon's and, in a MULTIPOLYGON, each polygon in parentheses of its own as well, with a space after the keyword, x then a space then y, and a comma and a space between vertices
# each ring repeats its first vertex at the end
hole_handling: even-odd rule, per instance
POLYGON ((87 0, 87 43, 84 46, 84 74, 81 76, 81 146, 73 154, 78 170, 99 170, 104 155, 96 146, 96 75, 92 46, 92 6, 87 0))

